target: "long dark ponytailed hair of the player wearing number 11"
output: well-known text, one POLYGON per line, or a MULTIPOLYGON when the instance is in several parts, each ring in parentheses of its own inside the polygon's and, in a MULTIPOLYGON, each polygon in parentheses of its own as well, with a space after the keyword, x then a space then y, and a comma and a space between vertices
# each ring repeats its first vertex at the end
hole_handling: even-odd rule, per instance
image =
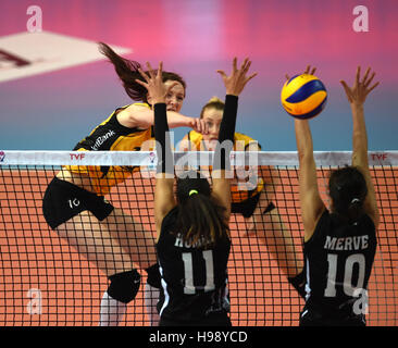
POLYGON ((179 210, 176 231, 181 233, 184 243, 206 248, 229 235, 224 219, 225 208, 211 197, 206 178, 178 178, 177 200, 179 210))

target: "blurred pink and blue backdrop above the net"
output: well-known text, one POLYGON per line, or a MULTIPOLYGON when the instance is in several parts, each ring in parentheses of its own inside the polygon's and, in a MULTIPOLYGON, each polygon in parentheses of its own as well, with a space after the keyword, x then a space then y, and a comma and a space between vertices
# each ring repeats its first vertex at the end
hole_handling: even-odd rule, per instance
MULTIPOLYGON (((29 5, 42 10, 43 30, 133 49, 126 58, 164 62, 187 82, 183 113, 197 116, 212 96, 224 96, 215 70, 234 55, 252 59, 259 76, 239 103, 237 130, 264 150, 296 150, 293 119, 281 107, 286 73, 307 64, 328 91, 311 121, 315 150, 350 150, 351 121, 339 79, 372 66, 381 82, 365 104, 370 148, 396 150, 398 117, 398 4, 380 1, 135 0, 12 1, 0 3, 0 37, 26 32, 29 5), (357 5, 369 10, 369 32, 356 33, 357 5)), ((0 71, 1 74, 1 71, 0 71)), ((67 150, 115 108, 129 103, 105 61, 0 84, 0 148, 67 150)), ((176 130, 176 140, 188 129, 176 130)))

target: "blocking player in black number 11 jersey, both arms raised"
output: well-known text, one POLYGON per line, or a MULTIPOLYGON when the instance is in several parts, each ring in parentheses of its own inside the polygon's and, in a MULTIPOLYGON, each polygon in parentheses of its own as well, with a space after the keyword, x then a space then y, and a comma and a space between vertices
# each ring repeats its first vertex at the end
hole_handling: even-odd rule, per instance
POLYGON ((154 220, 158 233, 158 261, 162 294, 158 303, 160 326, 231 325, 227 293, 227 261, 231 240, 231 187, 227 178, 233 148, 238 96, 256 74, 247 77, 246 59, 233 72, 222 75, 226 87, 224 116, 214 152, 213 187, 197 172, 185 172, 176 183, 165 117, 162 64, 156 73, 142 73, 141 83, 154 98, 154 136, 158 170, 154 191, 154 220), (220 146, 221 145, 221 146, 220 146))

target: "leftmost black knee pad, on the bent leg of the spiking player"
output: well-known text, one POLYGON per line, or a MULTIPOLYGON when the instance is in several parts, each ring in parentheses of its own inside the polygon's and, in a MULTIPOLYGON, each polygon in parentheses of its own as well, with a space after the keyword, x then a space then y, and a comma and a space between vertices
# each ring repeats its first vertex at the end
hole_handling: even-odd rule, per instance
POLYGON ((108 287, 110 297, 123 303, 128 303, 135 299, 141 283, 141 276, 137 270, 116 273, 108 278, 111 281, 108 287))

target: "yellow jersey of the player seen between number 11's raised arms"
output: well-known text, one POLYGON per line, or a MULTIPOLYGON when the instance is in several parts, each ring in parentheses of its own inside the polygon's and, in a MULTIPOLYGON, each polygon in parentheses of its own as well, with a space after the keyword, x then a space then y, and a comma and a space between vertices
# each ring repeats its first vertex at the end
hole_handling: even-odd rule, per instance
MULTIPOLYGON (((206 145, 202 141, 203 140, 203 136, 195 130, 190 130, 187 134, 187 150, 188 151, 206 151, 206 145)), ((254 140, 253 138, 241 134, 241 133, 235 133, 234 135, 234 151, 246 151, 247 148, 250 145, 256 144, 260 149, 261 149, 261 145, 254 140)), ((209 169, 211 170, 211 167, 209 169)), ((257 185, 257 187, 252 190, 242 190, 239 189, 238 185, 232 185, 231 186, 231 195, 232 195, 232 202, 233 203, 240 203, 244 202, 246 200, 248 200, 251 197, 254 197, 257 195, 259 195, 262 189, 264 188, 264 181, 259 177, 259 184, 257 185)))

